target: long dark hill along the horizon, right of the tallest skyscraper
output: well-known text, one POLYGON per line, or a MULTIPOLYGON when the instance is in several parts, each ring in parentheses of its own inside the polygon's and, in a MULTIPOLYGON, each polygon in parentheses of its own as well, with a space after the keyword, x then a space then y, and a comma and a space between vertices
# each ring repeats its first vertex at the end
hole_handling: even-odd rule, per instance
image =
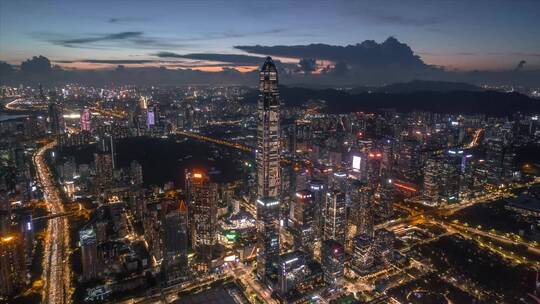
MULTIPOLYGON (((376 112, 395 108, 398 112, 414 110, 436 113, 486 114, 507 116, 516 112, 540 113, 540 100, 519 93, 495 91, 420 91, 411 93, 354 93, 334 89, 313 90, 280 87, 280 96, 287 106, 302 106, 309 100, 326 101, 328 113, 376 112)), ((256 102, 258 91, 246 94, 247 102, 256 102)))

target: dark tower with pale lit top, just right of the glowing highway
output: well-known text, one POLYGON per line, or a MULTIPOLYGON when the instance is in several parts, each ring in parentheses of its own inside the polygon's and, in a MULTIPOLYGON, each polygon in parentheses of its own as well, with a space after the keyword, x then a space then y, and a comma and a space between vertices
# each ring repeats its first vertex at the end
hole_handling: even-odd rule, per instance
POLYGON ((88 225, 79 230, 79 242, 81 243, 83 281, 95 279, 99 272, 99 260, 96 231, 93 226, 88 225))

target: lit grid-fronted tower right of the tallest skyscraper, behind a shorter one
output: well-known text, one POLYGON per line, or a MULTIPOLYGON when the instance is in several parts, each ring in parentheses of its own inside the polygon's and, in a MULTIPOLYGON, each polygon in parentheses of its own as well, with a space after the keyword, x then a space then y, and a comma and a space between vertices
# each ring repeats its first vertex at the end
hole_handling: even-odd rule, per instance
POLYGON ((345 244, 347 234, 347 205, 345 194, 339 190, 326 193, 324 208, 324 239, 345 244))

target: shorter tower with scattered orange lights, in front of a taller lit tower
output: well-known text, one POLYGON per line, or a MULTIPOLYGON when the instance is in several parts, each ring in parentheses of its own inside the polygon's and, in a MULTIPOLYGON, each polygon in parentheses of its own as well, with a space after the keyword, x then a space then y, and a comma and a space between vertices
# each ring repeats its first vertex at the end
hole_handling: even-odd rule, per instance
POLYGON ((335 285, 343 277, 344 263, 343 245, 335 240, 324 240, 321 246, 321 267, 327 284, 335 285))

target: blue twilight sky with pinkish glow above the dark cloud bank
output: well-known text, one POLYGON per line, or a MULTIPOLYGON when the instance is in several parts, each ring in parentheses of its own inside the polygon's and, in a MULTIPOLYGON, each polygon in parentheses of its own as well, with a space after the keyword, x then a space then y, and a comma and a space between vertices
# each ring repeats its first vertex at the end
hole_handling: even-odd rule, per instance
POLYGON ((242 54, 234 46, 394 36, 447 69, 508 70, 520 60, 540 69, 539 16, 540 0, 0 0, 0 60, 44 55, 65 67, 152 65, 158 52, 242 54))

